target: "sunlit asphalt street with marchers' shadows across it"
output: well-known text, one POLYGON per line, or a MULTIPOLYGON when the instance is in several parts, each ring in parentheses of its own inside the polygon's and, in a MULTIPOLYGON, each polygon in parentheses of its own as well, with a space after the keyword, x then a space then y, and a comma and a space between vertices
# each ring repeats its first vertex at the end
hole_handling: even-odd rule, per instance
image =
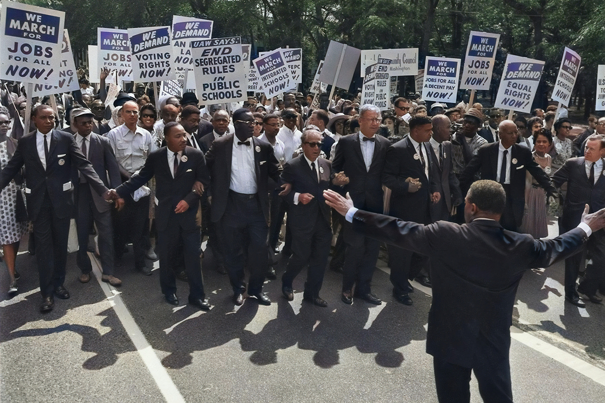
MULTIPOLYGON (((182 282, 181 305, 163 302, 158 272, 134 272, 132 253, 117 269, 118 289, 100 282, 98 266, 96 278, 79 283, 71 254, 71 298, 56 299, 47 315, 38 312, 35 258, 22 252, 17 265, 19 294, 11 299, 4 263, 0 268, 3 403, 437 401, 424 352, 430 290, 414 283, 414 305, 397 303, 382 261, 373 280, 381 306, 342 303, 341 277, 328 270, 321 292, 328 308, 302 302, 303 276, 292 302, 271 280, 271 306, 248 298, 234 307, 227 276, 207 256, 213 308, 201 312, 184 305, 182 282)), ((283 269, 281 262, 278 276, 283 269)), ((605 402, 605 306, 564 303, 562 283, 559 263, 527 272, 520 284, 511 328, 517 402, 605 402)), ((471 394, 481 401, 475 381, 471 394)))

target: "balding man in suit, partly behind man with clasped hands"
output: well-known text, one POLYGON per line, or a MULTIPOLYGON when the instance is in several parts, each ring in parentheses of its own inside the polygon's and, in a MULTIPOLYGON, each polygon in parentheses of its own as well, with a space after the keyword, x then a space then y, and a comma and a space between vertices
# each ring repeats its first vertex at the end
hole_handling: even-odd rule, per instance
POLYGON ((437 190, 441 193, 441 199, 431 204, 431 219, 433 222, 445 220, 450 221, 452 207, 462 203, 462 192, 460 182, 454 173, 454 160, 452 154, 451 121, 446 115, 436 115, 431 118, 433 123, 433 135, 431 144, 431 158, 434 164, 434 179, 437 190))

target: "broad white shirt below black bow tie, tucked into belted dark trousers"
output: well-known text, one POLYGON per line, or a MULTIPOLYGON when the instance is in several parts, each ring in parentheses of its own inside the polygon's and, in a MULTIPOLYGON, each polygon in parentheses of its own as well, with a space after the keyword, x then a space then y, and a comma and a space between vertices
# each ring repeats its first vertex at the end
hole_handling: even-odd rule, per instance
POLYGON ((245 195, 257 193, 257 174, 254 167, 254 143, 250 145, 237 144, 240 139, 233 138, 233 154, 231 158, 231 183, 229 189, 245 195))

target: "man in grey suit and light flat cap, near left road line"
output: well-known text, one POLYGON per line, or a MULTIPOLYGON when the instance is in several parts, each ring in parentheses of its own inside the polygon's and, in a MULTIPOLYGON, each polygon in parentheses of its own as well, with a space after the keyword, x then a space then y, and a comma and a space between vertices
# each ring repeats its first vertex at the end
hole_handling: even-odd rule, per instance
MULTIPOLYGON (((93 112, 90 109, 76 108, 71 111, 71 114, 73 117, 72 124, 76 128, 74 137, 80 151, 93 165, 94 172, 99 175, 106 187, 118 187, 122 183, 120 168, 111 149, 110 141, 92 132, 93 112)), ((99 254, 103 269, 101 280, 113 286, 120 285, 122 281, 114 277, 113 224, 111 222, 110 204, 91 189, 85 176, 78 175, 75 167, 71 182, 74 184, 77 206, 76 222, 79 244, 77 265, 82 271, 79 280, 81 283, 88 283, 90 272, 93 270, 87 253, 88 235, 90 234, 91 218, 93 218, 99 233, 99 254)), ((116 205, 120 208, 123 204, 123 199, 116 201, 116 205)))

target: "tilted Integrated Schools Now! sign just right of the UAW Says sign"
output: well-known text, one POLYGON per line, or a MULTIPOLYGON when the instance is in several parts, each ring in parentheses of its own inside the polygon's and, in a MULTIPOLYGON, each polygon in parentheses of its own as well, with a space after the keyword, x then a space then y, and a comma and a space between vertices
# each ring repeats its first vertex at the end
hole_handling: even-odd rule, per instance
POLYGON ((257 68, 260 84, 267 98, 287 91, 290 84, 290 68, 281 49, 270 51, 252 60, 257 68))

